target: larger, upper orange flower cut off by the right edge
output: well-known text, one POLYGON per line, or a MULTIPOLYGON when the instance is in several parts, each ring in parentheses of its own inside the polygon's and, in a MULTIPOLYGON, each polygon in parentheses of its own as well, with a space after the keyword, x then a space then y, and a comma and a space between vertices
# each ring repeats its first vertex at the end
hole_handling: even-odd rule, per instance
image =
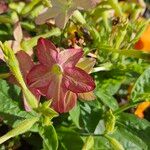
POLYGON ((135 44, 135 49, 150 52, 150 25, 135 44))

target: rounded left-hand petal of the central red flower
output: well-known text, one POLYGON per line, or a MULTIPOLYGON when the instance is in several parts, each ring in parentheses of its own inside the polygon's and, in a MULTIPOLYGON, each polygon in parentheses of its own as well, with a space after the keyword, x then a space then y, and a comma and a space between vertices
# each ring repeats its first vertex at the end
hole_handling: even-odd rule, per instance
POLYGON ((50 80, 50 71, 42 64, 34 66, 27 76, 28 85, 35 88, 47 86, 50 80))

